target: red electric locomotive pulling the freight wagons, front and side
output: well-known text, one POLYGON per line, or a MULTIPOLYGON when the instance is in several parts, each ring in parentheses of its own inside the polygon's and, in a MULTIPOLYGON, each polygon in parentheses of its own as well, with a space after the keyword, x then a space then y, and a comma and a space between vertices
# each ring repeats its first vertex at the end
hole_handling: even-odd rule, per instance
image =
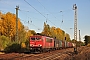
POLYGON ((54 48, 54 39, 47 36, 30 36, 30 50, 44 51, 54 48))

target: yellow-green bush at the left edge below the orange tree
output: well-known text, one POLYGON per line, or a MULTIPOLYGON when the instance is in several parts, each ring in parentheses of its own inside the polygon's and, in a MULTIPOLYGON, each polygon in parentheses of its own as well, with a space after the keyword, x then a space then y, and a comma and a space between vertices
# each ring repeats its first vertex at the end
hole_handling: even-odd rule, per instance
POLYGON ((0 50, 6 48, 10 42, 8 37, 4 35, 0 36, 0 50))

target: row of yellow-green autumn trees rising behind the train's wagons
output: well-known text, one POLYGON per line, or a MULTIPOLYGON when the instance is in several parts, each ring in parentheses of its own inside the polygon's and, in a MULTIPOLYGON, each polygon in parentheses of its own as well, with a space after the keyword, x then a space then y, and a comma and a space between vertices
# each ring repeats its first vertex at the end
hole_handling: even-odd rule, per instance
POLYGON ((65 37, 66 37, 66 40, 67 41, 70 41, 70 36, 69 34, 65 34, 65 31, 61 30, 60 28, 56 28, 56 27, 50 27, 48 24, 46 24, 44 22, 44 29, 41 33, 42 35, 46 35, 46 36, 50 36, 50 37, 53 37, 58 40, 65 40, 65 37))

